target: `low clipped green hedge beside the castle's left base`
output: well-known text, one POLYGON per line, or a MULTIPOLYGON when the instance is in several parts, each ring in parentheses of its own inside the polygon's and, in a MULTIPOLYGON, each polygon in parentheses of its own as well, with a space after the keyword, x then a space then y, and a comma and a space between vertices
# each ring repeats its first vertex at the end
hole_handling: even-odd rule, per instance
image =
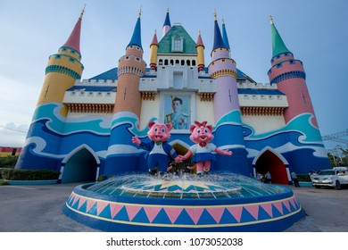
POLYGON ((58 179, 60 171, 52 170, 14 170, 6 169, 2 171, 4 179, 8 180, 44 180, 58 179))

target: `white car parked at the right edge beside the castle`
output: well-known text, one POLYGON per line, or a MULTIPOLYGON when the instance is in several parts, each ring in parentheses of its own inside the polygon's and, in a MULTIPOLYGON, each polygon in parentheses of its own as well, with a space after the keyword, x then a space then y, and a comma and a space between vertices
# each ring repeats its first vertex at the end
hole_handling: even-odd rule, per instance
POLYGON ((340 167, 313 173, 311 175, 311 184, 316 188, 335 187, 339 190, 342 185, 348 185, 348 169, 340 167))

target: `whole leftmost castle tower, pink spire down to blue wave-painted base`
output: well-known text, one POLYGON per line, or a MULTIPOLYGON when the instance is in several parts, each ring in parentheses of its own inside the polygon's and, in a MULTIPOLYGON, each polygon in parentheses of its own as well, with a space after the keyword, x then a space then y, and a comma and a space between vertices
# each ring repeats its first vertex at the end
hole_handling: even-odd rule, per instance
POLYGON ((84 69, 79 50, 79 39, 81 31, 82 16, 85 10, 82 10, 79 20, 66 43, 61 46, 57 54, 49 57, 46 66, 46 77, 38 97, 37 108, 33 120, 30 124, 29 132, 26 138, 26 145, 22 149, 21 156, 17 162, 17 169, 60 169, 60 160, 54 158, 59 154, 61 137, 55 137, 51 133, 46 137, 47 123, 54 123, 55 131, 62 133, 63 124, 68 112, 66 104, 63 104, 65 91, 73 87, 76 79, 81 78, 84 69), (59 110, 59 112, 56 112, 59 110), (57 119, 56 119, 57 118, 57 119), (40 122, 45 122, 44 124, 40 122), (50 156, 44 154, 33 154, 33 149, 40 150, 45 148, 50 151, 50 156))

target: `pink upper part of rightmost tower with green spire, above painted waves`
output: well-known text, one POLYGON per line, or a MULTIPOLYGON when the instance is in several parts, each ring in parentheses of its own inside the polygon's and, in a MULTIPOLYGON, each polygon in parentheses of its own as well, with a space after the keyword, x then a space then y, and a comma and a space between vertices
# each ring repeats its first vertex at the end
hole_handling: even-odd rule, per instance
POLYGON ((289 107, 284 113, 285 121, 288 123, 300 114, 311 113, 313 115, 311 122, 318 128, 302 62, 294 59, 294 54, 284 44, 272 17, 269 19, 273 45, 269 81, 271 84, 277 84, 278 89, 286 94, 289 107))

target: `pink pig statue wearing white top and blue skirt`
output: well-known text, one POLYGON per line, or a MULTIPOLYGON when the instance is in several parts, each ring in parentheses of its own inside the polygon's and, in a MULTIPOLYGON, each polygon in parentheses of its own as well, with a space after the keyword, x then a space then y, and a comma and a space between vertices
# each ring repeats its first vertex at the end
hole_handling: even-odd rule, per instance
MULTIPOLYGON (((195 162, 195 166, 197 169, 197 174, 201 175, 204 173, 209 173, 211 169, 211 161, 216 161, 215 155, 211 152, 216 152, 218 154, 223 155, 232 155, 232 151, 229 150, 221 150, 216 147, 210 141, 214 138, 211 134, 212 126, 206 125, 207 121, 203 121, 202 123, 195 121, 195 125, 190 126, 191 136, 190 139, 195 142, 194 146, 190 146, 187 153, 182 156, 182 160, 186 160, 191 154, 195 154, 192 158, 192 162, 195 162)), ((190 169, 193 169, 190 168, 190 169)))

